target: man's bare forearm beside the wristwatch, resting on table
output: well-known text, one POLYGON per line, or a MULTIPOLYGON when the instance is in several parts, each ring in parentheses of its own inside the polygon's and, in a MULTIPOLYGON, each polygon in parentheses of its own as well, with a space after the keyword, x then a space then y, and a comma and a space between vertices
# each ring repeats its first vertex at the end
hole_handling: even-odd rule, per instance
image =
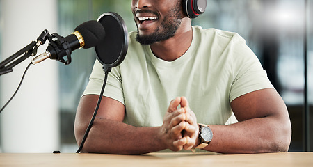
POLYGON ((254 118, 233 125, 209 125, 214 137, 204 150, 224 154, 286 152, 290 125, 275 118, 254 118))

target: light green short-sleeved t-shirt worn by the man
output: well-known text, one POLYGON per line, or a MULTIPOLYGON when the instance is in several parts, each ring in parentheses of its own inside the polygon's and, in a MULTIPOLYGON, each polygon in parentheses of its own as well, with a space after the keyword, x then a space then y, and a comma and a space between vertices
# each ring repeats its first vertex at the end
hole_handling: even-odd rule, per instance
MULTIPOLYGON (((136 42, 136 32, 131 32, 127 56, 109 73, 104 96, 125 104, 125 120, 136 127, 161 126, 170 101, 178 96, 187 98, 199 123, 224 125, 232 115, 232 100, 273 88, 245 42, 236 33, 193 26, 188 51, 169 62, 136 42)), ((103 80, 96 61, 83 95, 99 95, 103 80)))

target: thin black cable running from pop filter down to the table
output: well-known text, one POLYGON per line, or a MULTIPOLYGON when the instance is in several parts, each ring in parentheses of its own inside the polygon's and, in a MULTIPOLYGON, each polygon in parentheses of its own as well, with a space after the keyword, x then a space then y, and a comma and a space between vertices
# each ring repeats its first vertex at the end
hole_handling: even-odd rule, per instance
POLYGON ((109 74, 109 72, 105 72, 104 83, 103 83, 103 85, 102 85, 102 90, 101 90, 101 93, 100 93, 100 95, 99 95, 99 100, 98 100, 98 102, 97 102, 97 106, 96 106, 96 108, 95 108, 95 112, 93 113, 93 118, 91 118, 91 120, 90 120, 90 122, 89 122, 89 125, 88 125, 88 127, 87 127, 87 129, 86 129, 86 132, 85 132, 85 134, 83 135, 83 140, 81 141, 81 145, 79 146, 79 149, 77 150, 76 153, 81 152, 81 149, 83 148, 83 144, 85 143, 86 138, 87 138, 87 136, 88 136, 88 134, 89 134, 89 132, 90 132, 90 129, 91 129, 91 127, 93 126, 93 122, 95 121, 95 117, 97 116, 97 112, 98 112, 98 110, 99 110, 100 102, 101 102, 101 100, 102 100, 102 96, 103 96, 103 93, 104 93, 104 88, 106 87, 106 80, 108 79, 108 74, 109 74))

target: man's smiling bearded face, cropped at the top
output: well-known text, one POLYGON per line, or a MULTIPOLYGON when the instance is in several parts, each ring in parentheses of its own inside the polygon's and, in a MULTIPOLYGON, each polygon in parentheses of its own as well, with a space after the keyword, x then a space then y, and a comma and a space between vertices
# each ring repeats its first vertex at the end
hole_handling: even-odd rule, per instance
POLYGON ((142 45, 168 40, 182 22, 180 0, 133 0, 131 9, 142 45))

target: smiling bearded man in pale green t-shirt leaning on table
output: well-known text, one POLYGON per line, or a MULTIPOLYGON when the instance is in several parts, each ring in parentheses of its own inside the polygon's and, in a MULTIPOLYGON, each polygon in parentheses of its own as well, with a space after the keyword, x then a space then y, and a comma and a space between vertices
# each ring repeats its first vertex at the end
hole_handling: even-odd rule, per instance
MULTIPOLYGON (((191 26, 182 6, 132 1, 138 33, 129 34, 125 61, 109 74, 83 152, 286 152, 288 112, 257 57, 236 33, 191 26), (225 125, 232 112, 239 122, 225 125)), ((103 79, 96 62, 77 109, 79 144, 103 79)))

